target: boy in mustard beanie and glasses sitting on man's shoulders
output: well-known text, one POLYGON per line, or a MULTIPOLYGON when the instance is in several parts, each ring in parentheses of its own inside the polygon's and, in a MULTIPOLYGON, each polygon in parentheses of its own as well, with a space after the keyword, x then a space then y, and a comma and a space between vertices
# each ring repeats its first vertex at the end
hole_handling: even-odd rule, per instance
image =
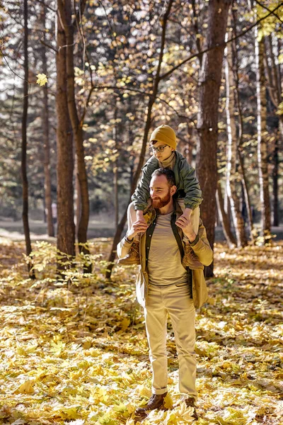
MULTIPOLYGON (((176 151, 175 131, 169 125, 160 125, 152 132, 150 149, 154 155, 146 162, 142 169, 142 176, 132 196, 132 203, 128 208, 127 220, 129 227, 137 220, 146 222, 146 212, 149 210, 149 182, 151 174, 158 168, 173 170, 177 186, 176 198, 183 210, 183 216, 192 221, 192 227, 197 234, 200 221, 200 203, 202 192, 195 174, 195 169, 187 163, 180 152, 176 151)), ((195 256, 187 237, 183 237, 185 255, 183 266, 192 270, 203 268, 202 263, 195 256)), ((134 238, 134 243, 128 254, 118 261, 119 264, 139 264, 139 237, 134 238)))

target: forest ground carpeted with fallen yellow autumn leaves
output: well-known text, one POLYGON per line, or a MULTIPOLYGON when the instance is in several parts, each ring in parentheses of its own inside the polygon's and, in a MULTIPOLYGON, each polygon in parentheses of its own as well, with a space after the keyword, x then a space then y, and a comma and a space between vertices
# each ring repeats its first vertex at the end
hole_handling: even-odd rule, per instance
MULTIPOLYGON (((0 242, 1 424, 134 424, 134 409, 151 394, 135 268, 115 266, 108 283, 96 255, 93 276, 60 281, 43 243, 30 280, 23 243, 0 242)), ((109 246, 98 240, 94 249, 109 246)), ((283 424, 282 246, 216 246, 211 300, 197 312, 196 425, 283 424)), ((168 368, 168 409, 144 425, 192 421, 178 399, 170 322, 168 368)))

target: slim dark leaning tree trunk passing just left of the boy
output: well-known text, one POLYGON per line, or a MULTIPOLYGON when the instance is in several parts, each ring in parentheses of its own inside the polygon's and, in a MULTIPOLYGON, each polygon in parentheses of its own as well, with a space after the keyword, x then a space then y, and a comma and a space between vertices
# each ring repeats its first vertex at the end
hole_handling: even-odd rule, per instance
MULTIPOLYGON (((149 130, 151 128, 151 111, 152 111, 152 107, 154 106, 154 102, 156 100, 156 96, 157 96, 157 93, 158 93, 158 84, 159 84, 159 81, 160 81, 159 77, 160 77, 160 72, 161 72, 161 63, 162 63, 162 59, 163 59, 163 50, 164 50, 164 45, 165 45, 166 26, 167 26, 168 16, 169 16, 169 13, 171 11, 172 4, 173 4, 173 0, 169 0, 166 13, 164 14, 163 20, 162 20, 161 48, 160 48, 160 53, 159 53, 159 58, 158 58, 158 66, 157 66, 157 69, 156 69, 156 76, 155 76, 155 79, 154 79, 152 94, 149 98, 149 103, 148 103, 148 106, 147 106, 146 124, 144 126, 144 137, 143 137, 142 145, 141 145, 141 153, 139 155, 139 164, 137 165, 137 169, 134 172, 134 176, 133 176, 133 179, 132 179, 132 185, 131 185, 131 188, 130 188, 130 196, 129 196, 128 205, 131 202, 132 193, 134 193, 134 190, 137 186, 137 182, 139 181, 139 175, 141 174, 141 167, 144 164, 147 138, 148 138, 148 135, 149 135, 149 130)), ((115 236, 114 236, 114 239, 113 239, 112 249, 111 249, 111 252, 110 252, 110 256, 108 258, 108 261, 110 262, 110 264, 108 266, 108 271, 105 273, 105 277, 108 278, 108 279, 110 278, 111 273, 112 273, 113 261, 115 260, 115 257, 116 257, 117 244, 120 242, 122 231, 125 227, 126 220, 127 220, 127 208, 126 208, 124 214, 122 215, 122 218, 120 220, 119 225, 117 226, 115 236)))

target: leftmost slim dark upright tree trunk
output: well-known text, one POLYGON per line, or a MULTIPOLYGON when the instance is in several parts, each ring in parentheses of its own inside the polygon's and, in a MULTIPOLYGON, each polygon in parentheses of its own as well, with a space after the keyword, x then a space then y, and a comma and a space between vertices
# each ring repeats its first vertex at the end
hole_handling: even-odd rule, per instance
MULTIPOLYGON (((22 116, 22 158, 21 174, 23 181, 23 231, 25 233, 25 254, 30 255, 30 226, 28 222, 28 175, 27 175, 27 120, 28 120, 28 0, 23 1, 23 55, 24 55, 24 80, 23 80, 23 116, 22 116)), ((32 264, 28 263, 30 277, 35 278, 34 272, 31 272, 32 264)))

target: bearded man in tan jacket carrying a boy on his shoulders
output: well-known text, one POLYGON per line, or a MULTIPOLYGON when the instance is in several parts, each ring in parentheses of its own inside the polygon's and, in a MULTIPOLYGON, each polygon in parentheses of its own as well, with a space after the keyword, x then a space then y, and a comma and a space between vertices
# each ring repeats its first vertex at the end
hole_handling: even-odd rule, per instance
POLYGON ((171 316, 179 361, 179 390, 187 407, 194 407, 195 388, 195 307, 207 301, 203 270, 185 269, 183 234, 189 239, 198 260, 208 266, 212 249, 207 241, 202 221, 198 234, 173 195, 176 191, 173 171, 158 169, 150 182, 151 208, 146 222, 137 220, 127 229, 126 236, 117 246, 121 258, 132 249, 134 237, 141 235, 139 255, 141 266, 137 276, 137 300, 144 307, 149 358, 153 370, 152 396, 144 407, 136 410, 143 419, 147 412, 163 406, 167 395, 167 317, 171 316))

